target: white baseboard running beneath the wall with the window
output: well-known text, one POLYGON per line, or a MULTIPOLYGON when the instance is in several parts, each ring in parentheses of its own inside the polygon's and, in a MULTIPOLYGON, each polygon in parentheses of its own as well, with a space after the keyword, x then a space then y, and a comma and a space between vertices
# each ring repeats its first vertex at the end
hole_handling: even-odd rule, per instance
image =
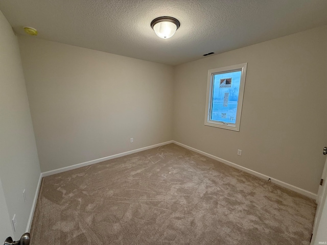
POLYGON ((211 155, 211 154, 208 154, 208 153, 206 153, 206 152, 202 152, 202 151, 200 151, 200 150, 197 150, 197 149, 195 149, 195 148, 192 148, 191 146, 188 146, 188 145, 185 145, 185 144, 179 143, 179 142, 177 142, 177 141, 174 141, 174 140, 173 140, 173 143, 178 144, 178 145, 182 146, 183 148, 189 149, 189 150, 191 150, 191 151, 193 151, 193 152, 199 153, 199 154, 204 155, 204 156, 206 156, 206 157, 209 157, 209 158, 212 158, 212 159, 217 160, 217 161, 219 161, 219 162, 225 163, 225 164, 227 164, 227 165, 229 165, 229 166, 232 166, 232 167, 238 168, 238 169, 240 169, 240 170, 243 170, 243 171, 245 171, 246 173, 249 173, 249 174, 254 175, 254 176, 256 176, 256 177, 259 177, 259 178, 262 178, 262 179, 265 179, 265 180, 270 179, 272 183, 275 183, 275 184, 277 184, 277 185, 280 185, 280 186, 283 186, 283 187, 288 188, 288 189, 290 189, 290 190, 293 190, 293 191, 295 191, 295 192, 297 192, 297 193, 300 193, 300 194, 302 194, 302 195, 305 195, 305 196, 308 197, 308 198, 311 198, 311 199, 314 199, 314 200, 316 200, 316 198, 317 198, 317 194, 312 193, 312 192, 310 192, 310 191, 308 191, 308 190, 301 189, 301 188, 299 188, 299 187, 296 187, 296 186, 294 186, 294 185, 288 184, 288 183, 283 182, 283 181, 281 181, 281 180, 277 180, 277 179, 274 179, 274 178, 269 177, 269 176, 267 176, 267 175, 263 175, 263 174, 258 173, 258 172, 256 172, 256 171, 253 171, 253 170, 251 170, 251 169, 249 169, 249 168, 246 168, 246 167, 240 166, 240 165, 238 165, 238 164, 236 164, 236 163, 233 163, 233 162, 227 161, 227 160, 222 159, 222 158, 220 158, 220 157, 216 157, 216 156, 211 155))

